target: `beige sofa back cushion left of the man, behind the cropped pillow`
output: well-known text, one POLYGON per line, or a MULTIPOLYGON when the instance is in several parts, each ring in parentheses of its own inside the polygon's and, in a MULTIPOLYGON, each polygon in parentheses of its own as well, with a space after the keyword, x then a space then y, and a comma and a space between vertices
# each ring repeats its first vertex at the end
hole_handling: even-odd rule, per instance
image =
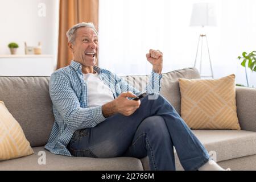
POLYGON ((31 146, 44 146, 54 117, 49 77, 0 76, 0 100, 22 127, 31 146))

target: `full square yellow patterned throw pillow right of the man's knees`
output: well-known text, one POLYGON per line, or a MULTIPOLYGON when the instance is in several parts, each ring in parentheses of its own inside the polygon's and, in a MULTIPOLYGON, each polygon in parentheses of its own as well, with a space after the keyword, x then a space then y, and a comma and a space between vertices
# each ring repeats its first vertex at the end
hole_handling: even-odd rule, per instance
POLYGON ((191 129, 240 130, 235 75, 203 80, 179 78, 181 118, 191 129))

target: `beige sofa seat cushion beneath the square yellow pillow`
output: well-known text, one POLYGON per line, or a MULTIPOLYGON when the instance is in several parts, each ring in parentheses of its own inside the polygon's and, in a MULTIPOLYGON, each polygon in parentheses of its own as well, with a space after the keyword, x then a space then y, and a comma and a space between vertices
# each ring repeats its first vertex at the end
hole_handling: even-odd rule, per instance
MULTIPOLYGON (((217 162, 256 154, 256 132, 245 130, 192 130, 217 162)), ((148 168, 148 158, 141 159, 148 168)), ((176 168, 181 164, 175 151, 176 168)))

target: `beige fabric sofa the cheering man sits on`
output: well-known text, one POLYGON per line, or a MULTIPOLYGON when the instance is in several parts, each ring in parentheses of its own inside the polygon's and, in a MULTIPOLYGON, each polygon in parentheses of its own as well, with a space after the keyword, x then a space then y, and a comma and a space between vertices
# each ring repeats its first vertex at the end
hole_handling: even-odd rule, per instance
MULTIPOLYGON (((164 73, 161 92, 180 113, 177 78, 200 78, 194 68, 164 73)), ((142 90, 147 76, 124 76, 142 90)), ((35 154, 0 162, 0 170, 148 170, 148 158, 80 158, 53 155, 44 149, 54 117, 48 90, 49 77, 0 76, 0 100, 22 126, 35 154), (42 152, 46 164, 40 163, 42 152), (43 152, 43 153, 44 153, 43 152)), ((193 130, 218 164, 233 170, 256 169, 256 89, 236 88, 237 114, 242 130, 193 130)), ((176 154, 175 154, 176 155, 176 154)), ((177 170, 182 170, 176 158, 177 170)))

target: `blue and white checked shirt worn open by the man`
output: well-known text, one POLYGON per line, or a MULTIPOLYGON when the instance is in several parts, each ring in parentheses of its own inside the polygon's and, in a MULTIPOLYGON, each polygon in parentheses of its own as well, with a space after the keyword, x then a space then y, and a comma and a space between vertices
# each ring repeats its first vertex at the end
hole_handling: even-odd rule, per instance
MULTIPOLYGON (((55 117, 51 135, 45 148, 53 154, 71 156, 67 144, 76 130, 94 127, 106 118, 102 115, 102 106, 86 108, 87 87, 82 74, 82 65, 76 61, 65 68, 53 72, 49 81, 49 94, 52 100, 52 109, 55 117)), ((122 92, 141 93, 127 84, 114 73, 94 66, 104 84, 108 85, 117 98, 122 92)), ((160 91, 162 75, 152 71, 146 90, 148 93, 160 91)))

